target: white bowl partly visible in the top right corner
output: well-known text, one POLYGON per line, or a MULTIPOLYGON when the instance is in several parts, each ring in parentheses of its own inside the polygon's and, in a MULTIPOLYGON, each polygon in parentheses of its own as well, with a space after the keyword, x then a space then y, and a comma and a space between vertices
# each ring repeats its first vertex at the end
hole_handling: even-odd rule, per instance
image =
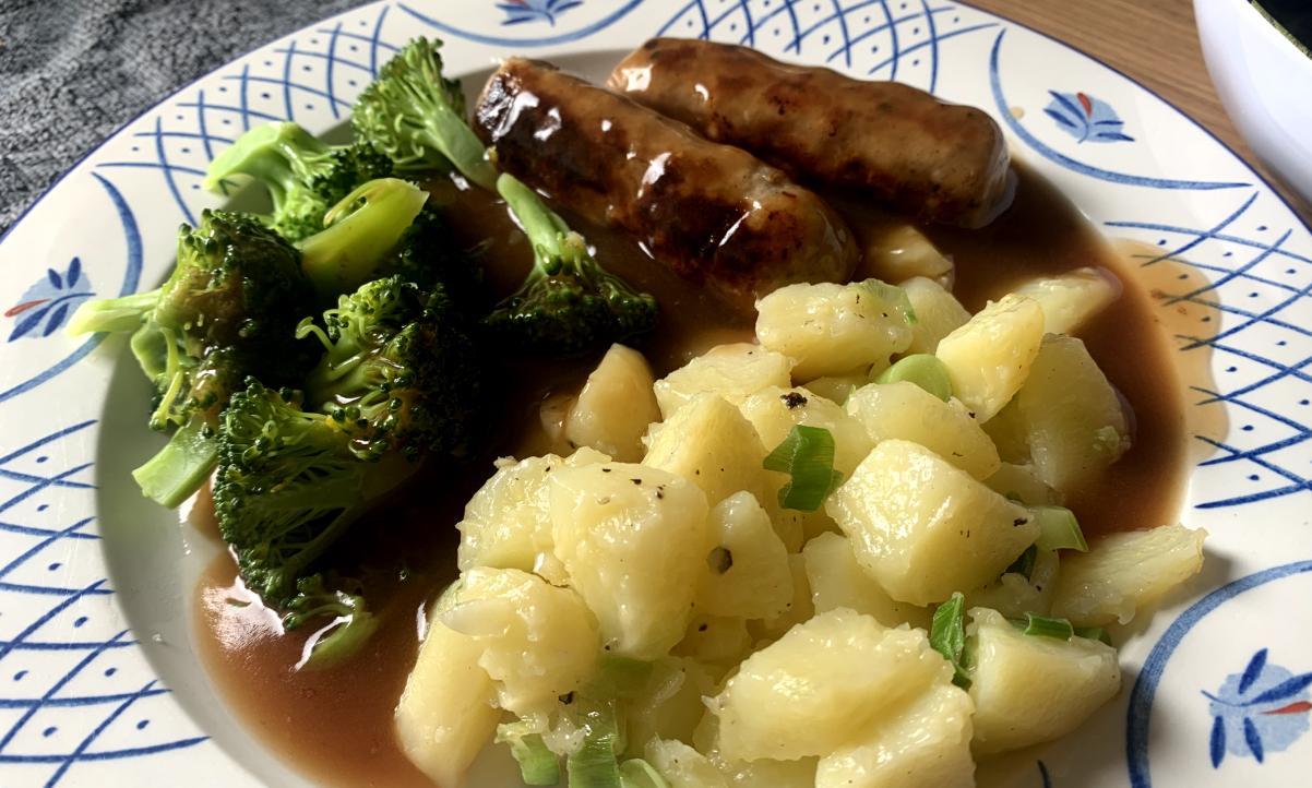
POLYGON ((1258 157, 1312 202, 1312 58, 1248 0, 1194 0, 1216 92, 1258 157))

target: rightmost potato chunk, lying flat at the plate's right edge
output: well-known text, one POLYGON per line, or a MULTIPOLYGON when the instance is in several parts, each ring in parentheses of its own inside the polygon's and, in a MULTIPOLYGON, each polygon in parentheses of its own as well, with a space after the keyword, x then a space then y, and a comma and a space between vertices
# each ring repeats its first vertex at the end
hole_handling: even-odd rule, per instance
POLYGON ((1130 621, 1135 612, 1203 568, 1207 531, 1160 526, 1113 534, 1086 553, 1068 553, 1052 598, 1052 615, 1078 627, 1130 621))

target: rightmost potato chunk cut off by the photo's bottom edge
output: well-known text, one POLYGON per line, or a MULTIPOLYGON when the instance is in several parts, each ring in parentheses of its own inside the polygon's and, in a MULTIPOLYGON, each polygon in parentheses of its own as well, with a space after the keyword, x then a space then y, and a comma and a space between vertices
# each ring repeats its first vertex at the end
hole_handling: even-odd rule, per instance
POLYGON ((816 788, 972 788, 971 711, 966 692, 937 683, 863 743, 821 758, 816 788))

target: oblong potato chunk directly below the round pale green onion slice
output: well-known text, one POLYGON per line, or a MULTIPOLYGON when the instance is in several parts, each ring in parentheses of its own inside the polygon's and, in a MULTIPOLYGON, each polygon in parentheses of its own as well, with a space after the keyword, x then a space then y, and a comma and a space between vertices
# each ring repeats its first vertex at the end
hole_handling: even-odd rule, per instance
POLYGON ((848 413, 875 443, 891 438, 920 443, 975 479, 998 468, 997 448, 960 403, 945 403, 908 380, 858 388, 848 413))

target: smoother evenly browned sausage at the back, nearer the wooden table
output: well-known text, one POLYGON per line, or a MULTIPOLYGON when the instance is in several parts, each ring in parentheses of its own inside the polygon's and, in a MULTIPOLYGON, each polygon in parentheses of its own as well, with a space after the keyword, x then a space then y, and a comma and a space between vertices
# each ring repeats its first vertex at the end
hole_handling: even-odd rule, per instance
POLYGON ((979 227, 1014 191, 992 118, 899 83, 653 38, 615 67, 610 87, 795 177, 870 191, 921 219, 979 227))

